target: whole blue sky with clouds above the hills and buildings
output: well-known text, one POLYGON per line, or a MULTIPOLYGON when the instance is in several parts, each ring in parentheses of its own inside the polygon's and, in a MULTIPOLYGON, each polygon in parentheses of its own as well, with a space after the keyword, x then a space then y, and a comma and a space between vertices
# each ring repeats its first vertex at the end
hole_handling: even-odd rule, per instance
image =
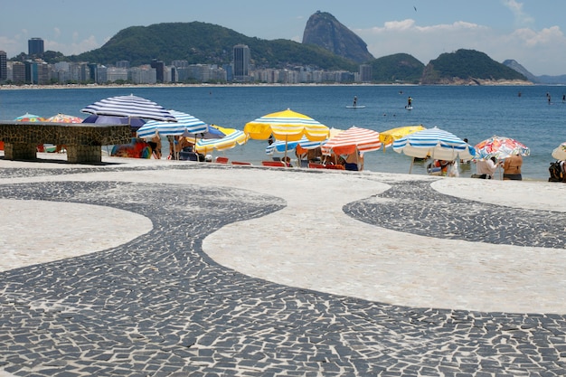
POLYGON ((535 75, 566 74, 564 0, 26 0, 0 9, 0 50, 9 58, 27 52, 32 37, 71 54, 99 48, 128 26, 170 22, 301 42, 308 17, 320 10, 358 34, 376 58, 407 52, 427 64, 463 48, 514 59, 535 75))

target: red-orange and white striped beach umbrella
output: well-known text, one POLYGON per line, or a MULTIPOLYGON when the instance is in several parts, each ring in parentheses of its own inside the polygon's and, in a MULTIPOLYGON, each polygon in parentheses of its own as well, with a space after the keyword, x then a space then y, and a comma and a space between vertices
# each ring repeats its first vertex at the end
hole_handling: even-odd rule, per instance
POLYGON ((323 155, 351 155, 356 149, 360 153, 376 151, 382 147, 380 134, 372 129, 350 127, 330 137, 322 146, 323 155))

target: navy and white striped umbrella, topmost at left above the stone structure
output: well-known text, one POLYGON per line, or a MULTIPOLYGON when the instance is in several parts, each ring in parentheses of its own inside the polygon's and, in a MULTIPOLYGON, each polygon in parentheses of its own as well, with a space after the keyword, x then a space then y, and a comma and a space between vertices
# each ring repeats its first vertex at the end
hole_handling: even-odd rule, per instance
POLYGON ((113 117, 155 119, 164 122, 175 122, 175 117, 165 108, 149 99, 130 94, 129 96, 108 97, 101 99, 80 111, 94 115, 113 117))

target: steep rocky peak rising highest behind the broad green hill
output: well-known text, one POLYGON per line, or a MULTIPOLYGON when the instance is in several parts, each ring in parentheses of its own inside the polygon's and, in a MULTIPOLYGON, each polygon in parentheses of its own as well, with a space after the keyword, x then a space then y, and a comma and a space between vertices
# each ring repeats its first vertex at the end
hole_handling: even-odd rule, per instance
POLYGON ((374 59, 362 38, 340 24, 334 15, 326 12, 317 11, 308 18, 303 32, 303 44, 315 44, 358 63, 374 59))

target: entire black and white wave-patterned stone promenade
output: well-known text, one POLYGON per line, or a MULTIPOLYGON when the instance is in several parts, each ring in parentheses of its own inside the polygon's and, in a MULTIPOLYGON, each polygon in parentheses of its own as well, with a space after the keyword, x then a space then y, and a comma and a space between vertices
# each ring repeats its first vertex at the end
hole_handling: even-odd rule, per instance
POLYGON ((0 159, 5 375, 566 374, 562 184, 104 162, 0 159))

